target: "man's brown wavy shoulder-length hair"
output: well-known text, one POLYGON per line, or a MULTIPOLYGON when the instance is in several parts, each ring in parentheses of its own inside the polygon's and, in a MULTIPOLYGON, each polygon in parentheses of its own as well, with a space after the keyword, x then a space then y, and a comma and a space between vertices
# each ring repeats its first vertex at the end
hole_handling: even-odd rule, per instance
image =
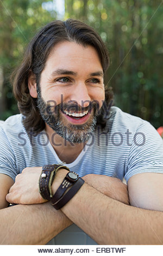
MULTIPOLYGON (((45 122, 37 108, 37 99, 29 94, 28 77, 33 73, 38 84, 49 53, 58 42, 63 41, 73 41, 83 46, 95 47, 101 60, 103 72, 108 69, 108 51, 101 37, 92 27, 73 19, 55 20, 48 23, 29 42, 21 65, 11 75, 14 96, 18 102, 18 109, 24 116, 23 124, 27 131, 33 130, 35 133, 39 133, 45 128, 45 122)), ((105 89, 105 106, 109 106, 112 96, 111 88, 105 89)), ((105 109, 102 107, 97 119, 97 124, 102 127, 105 126, 107 119, 104 117, 104 111, 105 109)))

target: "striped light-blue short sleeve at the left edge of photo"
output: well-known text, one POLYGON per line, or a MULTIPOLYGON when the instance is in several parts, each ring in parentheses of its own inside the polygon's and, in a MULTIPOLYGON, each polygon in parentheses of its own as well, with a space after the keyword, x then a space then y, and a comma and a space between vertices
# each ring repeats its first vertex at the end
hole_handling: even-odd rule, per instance
POLYGON ((16 173, 16 161, 7 136, 0 126, 0 173, 10 176, 14 181, 16 173))

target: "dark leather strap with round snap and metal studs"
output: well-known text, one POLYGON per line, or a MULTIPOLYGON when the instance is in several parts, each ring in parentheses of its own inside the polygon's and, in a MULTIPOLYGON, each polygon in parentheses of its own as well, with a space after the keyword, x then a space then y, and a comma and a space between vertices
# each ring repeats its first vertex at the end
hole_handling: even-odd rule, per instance
POLYGON ((55 204, 56 202, 58 202, 58 200, 64 195, 68 187, 72 186, 74 182, 77 182, 78 179, 79 179, 79 175, 77 173, 74 173, 74 172, 67 173, 66 177, 64 178, 58 190, 55 192, 55 194, 51 199, 52 204, 55 204))

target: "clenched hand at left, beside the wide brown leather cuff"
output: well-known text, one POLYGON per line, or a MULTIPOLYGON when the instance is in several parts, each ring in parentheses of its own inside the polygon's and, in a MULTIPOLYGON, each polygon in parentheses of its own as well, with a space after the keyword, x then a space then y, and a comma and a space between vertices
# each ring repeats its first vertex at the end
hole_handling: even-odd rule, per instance
POLYGON ((14 185, 6 196, 9 203, 40 204, 45 203, 39 192, 39 178, 42 167, 27 167, 18 174, 14 185))

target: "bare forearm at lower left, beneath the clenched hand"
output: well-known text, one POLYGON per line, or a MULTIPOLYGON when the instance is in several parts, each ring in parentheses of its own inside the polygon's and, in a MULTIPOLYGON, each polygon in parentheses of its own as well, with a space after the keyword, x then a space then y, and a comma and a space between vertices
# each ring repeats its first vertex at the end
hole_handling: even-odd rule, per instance
POLYGON ((49 203, 2 209, 0 220, 1 245, 45 245, 72 224, 49 203))

